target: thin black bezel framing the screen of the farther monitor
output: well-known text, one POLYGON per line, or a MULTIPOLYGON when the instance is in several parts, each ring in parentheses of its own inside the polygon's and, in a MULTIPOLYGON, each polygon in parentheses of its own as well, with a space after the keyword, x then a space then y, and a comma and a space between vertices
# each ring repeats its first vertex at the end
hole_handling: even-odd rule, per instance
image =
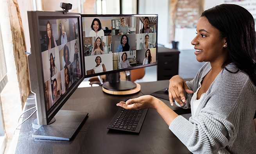
MULTIPOLYGON (((112 71, 106 71, 106 72, 102 72, 102 73, 89 74, 89 75, 86 75, 85 74, 86 70, 84 70, 84 78, 89 78, 89 77, 99 76, 99 75, 105 75, 105 74, 118 73, 118 72, 122 72, 122 71, 129 71, 129 70, 132 70, 132 69, 139 69, 139 68, 143 68, 143 67, 158 65, 158 14, 81 14, 81 18, 83 18, 83 17, 127 17, 127 16, 129 16, 129 17, 156 16, 156 21, 157 21, 156 22, 156 62, 152 63, 152 64, 147 64, 147 65, 134 66, 135 68, 134 67, 128 67, 128 68, 116 69, 116 70, 112 70, 112 71)), ((81 21, 82 21, 82 19, 81 19, 81 21)), ((82 33, 82 35, 83 35, 83 33, 82 33)), ((111 36, 115 36, 115 35, 111 35, 111 36)), ((82 40, 82 44, 83 43, 84 43, 84 41, 82 40)), ((84 46, 84 44, 82 46, 84 46)), ((133 50, 131 50, 131 51, 133 51, 133 50)), ((84 57, 84 55, 83 55, 83 57, 84 57)))

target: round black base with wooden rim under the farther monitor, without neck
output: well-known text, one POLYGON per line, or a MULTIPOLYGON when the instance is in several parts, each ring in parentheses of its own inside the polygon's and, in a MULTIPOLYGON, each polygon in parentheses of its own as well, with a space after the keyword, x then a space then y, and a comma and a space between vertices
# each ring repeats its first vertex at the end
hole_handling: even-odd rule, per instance
MULTIPOLYGON (((108 82, 105 82, 104 85, 109 85, 108 82)), ((127 81, 127 80, 120 80, 120 85, 118 87, 123 87, 121 89, 123 89, 122 91, 118 91, 117 89, 115 89, 115 87, 113 87, 112 89, 107 87, 105 88, 105 86, 102 86, 102 90, 104 92, 106 92, 107 94, 112 94, 112 95, 129 95, 129 94, 135 94, 136 92, 140 91, 140 84, 139 83, 134 83, 131 81, 127 81), (129 90, 124 90, 125 87, 129 87, 127 85, 132 84, 132 85, 136 85, 136 87, 134 87, 133 89, 128 88, 129 90)))

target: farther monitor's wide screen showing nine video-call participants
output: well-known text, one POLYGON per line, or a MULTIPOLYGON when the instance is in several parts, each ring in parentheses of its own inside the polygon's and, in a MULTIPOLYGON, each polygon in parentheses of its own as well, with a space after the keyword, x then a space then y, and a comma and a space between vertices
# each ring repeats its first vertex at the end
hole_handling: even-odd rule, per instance
POLYGON ((85 77, 156 65, 157 15, 81 16, 85 77))

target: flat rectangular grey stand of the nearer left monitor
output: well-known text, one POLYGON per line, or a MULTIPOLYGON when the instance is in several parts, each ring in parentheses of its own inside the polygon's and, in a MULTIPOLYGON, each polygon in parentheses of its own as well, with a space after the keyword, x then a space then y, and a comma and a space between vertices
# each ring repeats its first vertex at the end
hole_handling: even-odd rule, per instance
POLYGON ((38 125, 37 119, 32 122, 32 127, 37 129, 32 135, 35 139, 65 140, 70 141, 75 133, 83 126, 88 112, 59 110, 51 124, 38 125))

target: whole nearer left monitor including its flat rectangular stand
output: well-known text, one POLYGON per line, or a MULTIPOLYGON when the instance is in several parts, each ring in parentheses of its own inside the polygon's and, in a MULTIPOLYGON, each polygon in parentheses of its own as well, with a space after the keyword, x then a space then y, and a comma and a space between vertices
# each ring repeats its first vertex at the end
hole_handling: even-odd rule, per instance
POLYGON ((70 140, 88 114, 60 110, 84 79, 81 15, 29 11, 28 19, 30 84, 37 108, 37 119, 32 126, 38 129, 33 136, 70 140), (65 118, 54 122, 54 116, 65 118))

